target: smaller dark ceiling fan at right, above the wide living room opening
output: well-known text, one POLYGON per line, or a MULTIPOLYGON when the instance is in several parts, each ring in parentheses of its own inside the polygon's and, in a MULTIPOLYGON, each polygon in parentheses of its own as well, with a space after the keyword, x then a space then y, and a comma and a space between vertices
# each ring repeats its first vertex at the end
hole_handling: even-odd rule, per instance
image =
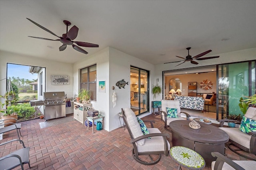
MULTIPOLYGON (((190 63, 192 63, 192 64, 198 64, 196 61, 193 61, 193 59, 195 59, 195 60, 207 60, 207 59, 214 59, 214 58, 219 58, 220 57, 220 56, 214 56, 214 57, 204 57, 204 58, 198 59, 199 57, 202 57, 202 56, 210 53, 212 50, 205 51, 204 53, 201 53, 201 54, 198 54, 198 55, 192 57, 191 55, 189 55, 189 50, 191 49, 191 47, 188 47, 186 49, 188 50, 188 55, 187 55, 186 59, 183 58, 183 57, 176 56, 176 57, 179 57, 181 59, 184 59, 184 60, 182 60, 182 61, 184 61, 183 63, 185 63, 186 61, 190 61, 190 63)), ((177 62, 180 62, 180 61, 174 61, 174 62, 169 62, 169 63, 177 63, 177 62)), ((167 63, 164 63, 164 64, 167 64, 167 63)), ((180 64, 182 64, 182 63, 180 63, 180 64)), ((178 64, 178 65, 180 65, 180 64, 178 64)), ((176 65, 176 66, 178 66, 178 65, 176 65)))

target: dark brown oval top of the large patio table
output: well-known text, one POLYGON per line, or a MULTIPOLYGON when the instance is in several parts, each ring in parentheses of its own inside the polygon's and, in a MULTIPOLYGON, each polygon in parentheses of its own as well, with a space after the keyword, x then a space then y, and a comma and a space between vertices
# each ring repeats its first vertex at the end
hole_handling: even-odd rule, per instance
POLYGON ((228 142, 228 134, 218 127, 200 123, 200 129, 192 129, 189 127, 189 120, 175 120, 170 122, 169 126, 172 132, 177 133, 181 137, 209 144, 222 144, 228 142))

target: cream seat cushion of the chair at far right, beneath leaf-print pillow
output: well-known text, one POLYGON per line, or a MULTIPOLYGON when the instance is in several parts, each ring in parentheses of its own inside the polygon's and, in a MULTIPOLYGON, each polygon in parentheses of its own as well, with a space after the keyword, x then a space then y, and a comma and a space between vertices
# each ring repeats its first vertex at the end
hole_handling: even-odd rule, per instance
POLYGON ((251 136, 246 133, 242 133, 240 131, 240 128, 236 128, 236 127, 219 127, 219 128, 225 131, 226 133, 228 133, 230 140, 238 143, 239 145, 242 145, 243 147, 246 147, 248 149, 250 148, 251 136))

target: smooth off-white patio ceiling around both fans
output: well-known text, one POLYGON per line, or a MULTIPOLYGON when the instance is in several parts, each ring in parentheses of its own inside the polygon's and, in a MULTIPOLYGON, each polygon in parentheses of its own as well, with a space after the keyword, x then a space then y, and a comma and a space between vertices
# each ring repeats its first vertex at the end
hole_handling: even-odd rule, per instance
MULTIPOLYGON (((256 47, 256 1, 73 1, 1 0, 0 50, 43 59, 75 63, 106 47, 152 64, 180 61, 192 47, 206 56, 256 47), (58 36, 68 20, 79 28, 76 41, 95 43, 79 53, 56 41, 26 18, 58 36), (230 38, 230 39, 229 39, 230 38), (228 41, 222 41, 229 39, 228 41)), ((69 27, 70 28, 70 27, 69 27)))

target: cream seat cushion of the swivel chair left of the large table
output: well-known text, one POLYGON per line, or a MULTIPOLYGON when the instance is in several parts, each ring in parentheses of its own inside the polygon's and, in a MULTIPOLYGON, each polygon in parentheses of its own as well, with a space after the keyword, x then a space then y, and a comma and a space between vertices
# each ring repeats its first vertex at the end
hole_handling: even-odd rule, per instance
MULTIPOLYGON (((157 128, 148 128, 149 133, 161 133, 157 128)), ((168 143, 168 150, 170 150, 170 143, 168 143)), ((153 152, 164 150, 164 139, 161 136, 151 137, 151 139, 145 139, 143 146, 137 145, 138 152, 153 152)))

